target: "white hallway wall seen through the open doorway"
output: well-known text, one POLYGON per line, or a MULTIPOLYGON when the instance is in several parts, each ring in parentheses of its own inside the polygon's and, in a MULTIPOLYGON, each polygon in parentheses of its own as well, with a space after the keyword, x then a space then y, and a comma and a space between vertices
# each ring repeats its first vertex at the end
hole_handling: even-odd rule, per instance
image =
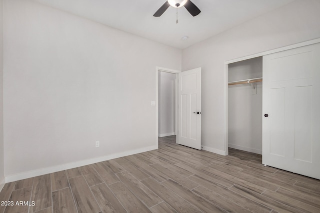
POLYGON ((174 135, 174 80, 176 74, 159 72, 159 137, 174 135))

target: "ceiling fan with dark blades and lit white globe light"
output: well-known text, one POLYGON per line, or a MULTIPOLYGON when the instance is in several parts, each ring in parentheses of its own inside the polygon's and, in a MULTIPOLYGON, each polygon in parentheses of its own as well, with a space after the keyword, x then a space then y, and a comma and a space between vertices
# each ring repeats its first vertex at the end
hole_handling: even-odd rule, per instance
POLYGON ((154 14, 154 17, 159 17, 162 13, 169 8, 169 6, 173 6, 176 8, 184 6, 186 10, 192 15, 196 16, 201 11, 200 9, 192 3, 190 0, 167 0, 154 14))

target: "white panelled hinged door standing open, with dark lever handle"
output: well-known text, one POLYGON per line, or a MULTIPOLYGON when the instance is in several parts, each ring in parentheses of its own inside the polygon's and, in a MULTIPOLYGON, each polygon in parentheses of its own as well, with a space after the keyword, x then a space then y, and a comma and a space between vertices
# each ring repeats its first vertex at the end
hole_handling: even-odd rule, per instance
POLYGON ((201 149, 201 68, 178 73, 178 144, 201 149))

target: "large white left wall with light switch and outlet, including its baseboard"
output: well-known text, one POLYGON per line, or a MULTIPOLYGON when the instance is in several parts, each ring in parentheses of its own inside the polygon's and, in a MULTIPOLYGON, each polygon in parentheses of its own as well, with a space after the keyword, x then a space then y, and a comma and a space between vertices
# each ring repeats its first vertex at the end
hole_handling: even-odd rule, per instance
POLYGON ((6 181, 157 147, 154 70, 181 50, 27 0, 3 32, 6 181))

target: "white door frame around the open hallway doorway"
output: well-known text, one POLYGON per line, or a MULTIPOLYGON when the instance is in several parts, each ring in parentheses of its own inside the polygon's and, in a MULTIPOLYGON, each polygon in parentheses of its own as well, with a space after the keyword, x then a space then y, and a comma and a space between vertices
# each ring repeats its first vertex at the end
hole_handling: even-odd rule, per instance
MULTIPOLYGON (((178 130, 178 73, 181 72, 180 70, 175 70, 175 69, 168 69, 168 68, 163 68, 163 67, 155 67, 155 108, 156 108, 156 138, 158 138, 158 73, 159 72, 168 72, 168 73, 172 73, 175 74, 175 80, 174 80, 174 132, 175 134, 177 134, 177 130, 178 130)), ((176 137, 176 141, 175 143, 178 143, 178 138, 176 137)), ((158 146, 158 140, 156 140, 156 145, 158 146)))

